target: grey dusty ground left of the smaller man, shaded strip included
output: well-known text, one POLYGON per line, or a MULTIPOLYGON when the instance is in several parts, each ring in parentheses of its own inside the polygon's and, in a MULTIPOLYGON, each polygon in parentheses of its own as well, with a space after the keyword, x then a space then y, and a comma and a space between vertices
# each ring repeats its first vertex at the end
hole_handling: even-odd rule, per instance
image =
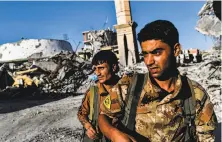
POLYGON ((82 129, 76 113, 82 97, 0 101, 0 141, 79 141, 82 129))

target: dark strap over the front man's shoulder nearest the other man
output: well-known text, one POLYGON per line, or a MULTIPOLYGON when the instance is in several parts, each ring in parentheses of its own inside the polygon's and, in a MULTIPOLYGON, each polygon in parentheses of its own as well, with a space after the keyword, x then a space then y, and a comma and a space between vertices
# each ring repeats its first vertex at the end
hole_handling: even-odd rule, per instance
POLYGON ((135 74, 133 77, 133 82, 130 84, 127 90, 128 98, 122 124, 131 131, 133 131, 135 127, 136 109, 147 77, 148 74, 135 74))

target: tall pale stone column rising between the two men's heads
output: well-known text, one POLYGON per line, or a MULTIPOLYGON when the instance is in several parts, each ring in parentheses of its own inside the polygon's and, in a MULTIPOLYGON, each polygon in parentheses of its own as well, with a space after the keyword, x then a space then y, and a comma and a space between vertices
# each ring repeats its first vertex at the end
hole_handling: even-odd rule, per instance
POLYGON ((139 54, 136 40, 136 26, 132 21, 129 0, 115 0, 117 25, 117 42, 120 55, 120 63, 131 66, 138 62, 139 54))

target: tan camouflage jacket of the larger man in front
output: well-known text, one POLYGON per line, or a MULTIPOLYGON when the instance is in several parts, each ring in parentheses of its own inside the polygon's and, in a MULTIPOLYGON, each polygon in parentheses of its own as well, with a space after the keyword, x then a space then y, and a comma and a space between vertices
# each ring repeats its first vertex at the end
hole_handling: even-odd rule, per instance
MULTIPOLYGON (((129 80, 129 82, 131 81, 129 80)), ((143 87, 137 106, 135 131, 152 142, 184 141, 186 127, 184 127, 185 117, 182 108, 184 101, 182 98, 186 96, 186 92, 181 91, 183 87, 181 76, 175 77, 175 90, 170 93, 152 82, 148 78, 143 87)), ((196 101, 194 120, 196 126, 194 133, 196 134, 193 135, 197 137, 198 141, 213 142, 215 138, 212 133, 217 123, 213 105, 204 89, 198 83, 191 82, 195 93, 193 99, 196 101), (203 98, 206 99, 203 100, 203 98)), ((118 102, 119 106, 126 104, 124 97, 122 98, 118 102)), ((115 103, 117 102, 115 101, 115 103)), ((109 109, 101 103, 101 113, 109 117, 115 118, 116 114, 124 114, 123 111, 123 107, 111 106, 109 109)), ((116 117, 119 117, 118 115, 116 117)))

